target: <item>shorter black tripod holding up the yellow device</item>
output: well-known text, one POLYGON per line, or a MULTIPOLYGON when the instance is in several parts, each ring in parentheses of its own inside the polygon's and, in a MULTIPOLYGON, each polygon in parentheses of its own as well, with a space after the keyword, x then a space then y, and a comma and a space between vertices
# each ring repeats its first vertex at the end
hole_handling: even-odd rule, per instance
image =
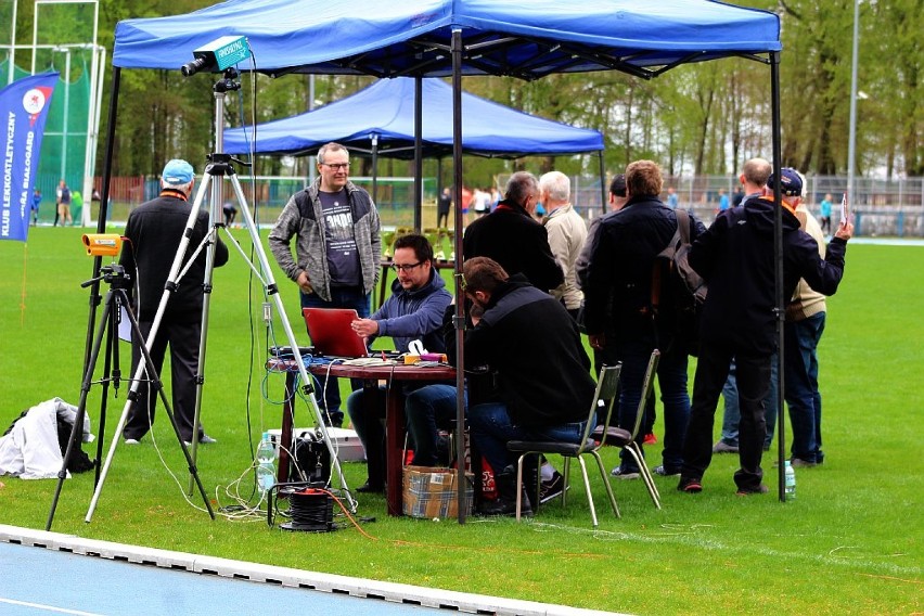
MULTIPOLYGON (((103 435, 105 434, 106 428, 106 399, 108 393, 110 383, 112 383, 113 388, 118 390, 119 381, 121 380, 121 372, 119 370, 119 355, 118 355, 118 322, 120 316, 123 313, 123 309, 125 309, 125 313, 128 316, 129 321, 131 322, 131 331, 132 338, 134 341, 143 341, 143 336, 141 335, 141 330, 138 326, 138 320, 134 318, 134 313, 131 310, 131 303, 128 299, 128 294, 126 293, 127 288, 131 286, 131 279, 128 274, 125 273, 125 269, 118 265, 106 266, 101 268, 101 275, 94 278, 92 280, 88 280, 84 282, 80 286, 86 288, 92 284, 98 283, 103 280, 108 283, 110 291, 106 294, 105 305, 103 307, 103 315, 100 318, 100 325, 97 329, 97 334, 93 341, 93 347, 90 351, 90 358, 87 363, 87 371, 84 375, 84 382, 80 386, 80 402, 77 407, 77 416, 74 420, 74 427, 70 431, 70 437, 67 441, 67 450, 64 453, 64 461, 61 465, 61 471, 57 473, 57 487, 54 490, 54 499, 51 502, 51 511, 48 514, 48 522, 46 523, 46 530, 51 530, 51 524, 54 521, 54 512, 57 509, 57 501, 61 497, 61 489, 64 485, 64 479, 67 478, 67 465, 70 463, 70 457, 74 453, 76 448, 79 448, 78 445, 80 442, 80 433, 84 428, 84 418, 87 414, 87 396, 90 392, 90 387, 93 384, 93 371, 95 370, 97 360, 99 359, 100 351, 102 349, 103 334, 106 336, 106 355, 103 363, 103 375, 101 378, 101 383, 103 385, 103 395, 100 401, 100 438, 97 445, 97 458, 94 460, 95 478, 94 486, 99 488, 101 485, 100 480, 100 459, 103 452, 103 435)), ((174 412, 170 409, 170 403, 167 400, 167 396, 164 393, 164 387, 161 383, 161 378, 157 375, 157 370, 154 367, 154 360, 151 358, 149 352, 150 345, 145 346, 143 344, 141 346, 141 352, 143 355, 143 362, 139 362, 139 374, 142 370, 147 371, 147 376, 151 380, 151 387, 157 390, 157 394, 161 396, 161 400, 164 402, 164 409, 167 412, 167 415, 170 418, 170 424, 174 426, 174 432, 177 435, 177 440, 180 444, 180 449, 183 451, 183 455, 185 455, 187 464, 189 464, 190 476, 195 480, 198 486, 198 491, 202 495, 202 500, 205 503, 206 509, 208 510, 208 514, 215 519, 215 513, 211 511, 211 503, 208 501, 208 496, 205 493, 205 488, 202 486, 202 482, 198 477, 198 472, 195 467, 195 462, 193 461, 192 455, 190 455, 189 449, 187 449, 185 444, 183 442, 183 438, 180 435, 180 428, 177 425, 177 421, 174 418, 174 412)), ((137 376, 136 376, 137 378, 137 376)), ((137 385, 132 386, 131 392, 129 393, 129 403, 131 403, 137 396, 137 385)), ((123 416, 123 420, 125 416, 123 416)), ((113 448, 115 448, 115 442, 121 434, 123 423, 119 425, 115 437, 113 437, 113 448)), ((89 522, 89 517, 87 518, 89 522)))

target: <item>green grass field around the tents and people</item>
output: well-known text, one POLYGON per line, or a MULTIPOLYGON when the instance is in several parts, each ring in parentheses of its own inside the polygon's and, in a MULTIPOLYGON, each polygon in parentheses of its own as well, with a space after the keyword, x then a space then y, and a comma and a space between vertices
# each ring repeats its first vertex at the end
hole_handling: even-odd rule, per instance
MULTIPOLYGON (((246 234, 235 233, 249 251, 246 234)), ((0 257, 8 272, 0 279, 5 428, 39 401, 79 400, 88 324, 88 293, 79 283, 90 277, 92 261, 80 230, 62 228, 33 229, 27 246, 0 242, 0 257)), ((359 514, 375 522, 362 523, 362 531, 290 534, 261 519, 213 522, 196 509, 197 493, 188 504, 185 464, 162 415, 154 431, 158 448, 149 437, 117 449, 90 524, 84 517, 92 474, 65 483, 53 530, 636 614, 921 613, 922 271, 921 247, 849 247, 820 347, 825 463, 798 471, 797 499, 785 504, 774 498, 771 461, 765 463, 771 493, 742 499, 732 482, 735 459, 720 455, 701 495, 677 492, 676 478, 656 479, 663 511, 652 506, 640 482, 614 480, 623 519, 613 518, 600 478, 592 478, 598 530, 576 485, 566 510, 543 506, 527 524, 388 517, 384 498, 364 497, 359 514)), ((228 492, 235 489, 252 496, 251 439, 280 425, 282 378, 267 376, 262 363, 267 346, 285 343, 280 328, 277 341, 268 341, 262 292, 248 282, 248 272, 233 254, 215 272, 203 421, 219 442, 200 449, 198 467, 216 505, 233 504, 228 492)), ((304 336, 295 285, 275 275, 293 326, 304 336)), ((128 374, 125 346, 121 357, 128 374)), ((100 389, 92 388, 88 405, 94 432, 100 389)), ((126 392, 124 385, 110 396, 106 448, 126 392)), ((296 423, 309 423, 304 405, 298 412, 304 422, 296 423)), ((663 434, 659 424, 656 433, 663 434)), ((646 449, 650 463, 659 463, 659 446, 646 449)), ((616 452, 607 455, 614 465, 616 452)), ((345 464, 345 473, 350 486, 364 480, 362 464, 345 464)), ((44 528, 56 482, 2 482, 0 523, 44 528)))

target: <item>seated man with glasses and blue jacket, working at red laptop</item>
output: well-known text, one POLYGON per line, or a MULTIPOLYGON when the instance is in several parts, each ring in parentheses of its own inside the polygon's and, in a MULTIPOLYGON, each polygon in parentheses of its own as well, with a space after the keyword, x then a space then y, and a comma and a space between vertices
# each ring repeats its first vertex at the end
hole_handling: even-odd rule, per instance
MULTIPOLYGON (((452 301, 446 283, 433 267, 433 246, 418 234, 402 235, 395 242, 392 268, 398 279, 392 283, 392 296, 369 319, 357 319, 352 330, 371 342, 392 336, 395 348, 408 351, 419 339, 429 352, 444 352, 442 313, 452 301)), ((455 387, 449 384, 403 385, 408 431, 414 441, 414 464, 436 465, 437 425, 455 416, 455 387)), ((350 421, 365 448, 369 478, 358 492, 385 491, 385 390, 382 387, 357 389, 347 399, 350 421), (369 397, 374 399, 370 400, 369 397)))

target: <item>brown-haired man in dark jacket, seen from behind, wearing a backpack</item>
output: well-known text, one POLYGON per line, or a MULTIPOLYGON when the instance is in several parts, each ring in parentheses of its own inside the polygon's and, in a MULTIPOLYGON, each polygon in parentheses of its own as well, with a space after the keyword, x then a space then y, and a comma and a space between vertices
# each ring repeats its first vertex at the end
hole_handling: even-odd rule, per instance
MULTIPOLYGON (((605 216, 594 234, 585 272, 585 324, 593 348, 615 348, 623 361, 619 426, 631 429, 642 395, 642 383, 652 350, 660 349, 657 368, 664 403, 664 463, 659 475, 680 473, 681 446, 690 415, 686 393, 686 348, 673 336, 659 332, 651 315, 652 268, 677 232, 677 213, 658 198, 664 185, 660 168, 652 161, 636 161, 626 168, 628 202, 605 216), (604 332, 615 337, 607 339, 604 332)), ((703 223, 690 217, 690 236, 703 232, 703 223)), ((641 432, 641 431, 640 431, 641 432)), ((643 434, 638 435, 641 447, 643 434)), ((639 477, 634 460, 621 452, 613 475, 639 477)))

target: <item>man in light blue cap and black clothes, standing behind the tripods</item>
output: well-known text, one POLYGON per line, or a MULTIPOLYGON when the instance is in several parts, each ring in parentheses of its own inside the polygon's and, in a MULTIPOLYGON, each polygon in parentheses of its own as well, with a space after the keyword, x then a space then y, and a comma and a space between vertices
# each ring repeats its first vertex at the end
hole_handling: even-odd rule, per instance
MULTIPOLYGON (((185 233, 192 204, 189 197, 195 184, 192 165, 175 158, 161 174, 161 194, 134 208, 125 227, 126 247, 119 262, 134 281, 133 305, 139 329, 144 339, 132 339, 132 374, 141 361, 141 345, 145 344, 154 322, 161 296, 170 273, 180 241, 185 233)), ((190 245, 197 246, 208 233, 208 213, 198 213, 190 236, 190 245)), ((228 247, 215 236, 215 267, 228 262, 228 247)), ((170 385, 174 414, 180 436, 190 445, 193 435, 200 442, 216 440, 194 426, 195 386, 198 371, 198 346, 202 334, 203 283, 205 281, 205 251, 201 252, 185 274, 177 281, 151 347, 154 368, 161 374, 167 345, 170 345, 170 385)), ((138 401, 131 408, 123 431, 126 445, 138 445, 154 423, 157 392, 149 387, 144 376, 138 389, 138 401)))

